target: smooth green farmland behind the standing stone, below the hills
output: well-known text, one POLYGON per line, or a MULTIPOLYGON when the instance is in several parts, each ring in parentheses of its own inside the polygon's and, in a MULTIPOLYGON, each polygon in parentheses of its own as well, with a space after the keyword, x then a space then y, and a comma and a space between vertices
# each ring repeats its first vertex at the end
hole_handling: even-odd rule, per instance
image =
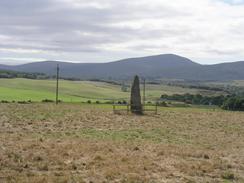
MULTIPOLYGON (((61 80, 59 86, 59 98, 64 102, 128 100, 130 96, 129 92, 121 91, 121 86, 104 82, 61 80)), ((0 79, 0 100, 36 102, 43 99, 55 100, 55 90, 55 80, 0 79)), ((197 89, 176 86, 152 84, 146 86, 148 100, 156 100, 162 94, 195 94, 198 92, 197 89)))

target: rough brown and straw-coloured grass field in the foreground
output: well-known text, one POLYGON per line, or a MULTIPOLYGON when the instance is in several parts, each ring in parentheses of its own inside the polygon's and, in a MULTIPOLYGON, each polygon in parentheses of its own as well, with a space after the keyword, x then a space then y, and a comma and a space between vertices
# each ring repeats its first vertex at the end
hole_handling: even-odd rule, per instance
POLYGON ((0 182, 244 182, 244 113, 0 104, 0 182))

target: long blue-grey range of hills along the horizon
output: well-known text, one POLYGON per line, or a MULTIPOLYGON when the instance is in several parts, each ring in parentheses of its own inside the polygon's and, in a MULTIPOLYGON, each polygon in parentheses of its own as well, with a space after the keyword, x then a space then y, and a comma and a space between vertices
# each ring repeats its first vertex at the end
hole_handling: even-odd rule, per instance
POLYGON ((17 66, 0 65, 0 69, 55 75, 79 79, 129 79, 135 74, 151 79, 239 80, 244 79, 244 62, 201 65, 173 54, 130 58, 109 63, 36 62, 17 66))

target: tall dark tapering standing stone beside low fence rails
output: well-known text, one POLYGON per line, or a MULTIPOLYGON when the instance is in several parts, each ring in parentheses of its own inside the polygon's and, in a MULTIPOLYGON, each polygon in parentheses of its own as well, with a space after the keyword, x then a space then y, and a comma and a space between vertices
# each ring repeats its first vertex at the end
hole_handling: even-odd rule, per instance
POLYGON ((141 93, 139 77, 135 76, 131 88, 130 98, 131 112, 134 114, 142 114, 141 93))

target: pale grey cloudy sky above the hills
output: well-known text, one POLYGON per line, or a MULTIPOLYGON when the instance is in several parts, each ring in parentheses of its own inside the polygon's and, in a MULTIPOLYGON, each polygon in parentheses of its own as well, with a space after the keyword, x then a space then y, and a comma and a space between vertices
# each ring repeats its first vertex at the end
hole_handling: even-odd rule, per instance
POLYGON ((0 0, 0 64, 244 60, 244 0, 0 0))

